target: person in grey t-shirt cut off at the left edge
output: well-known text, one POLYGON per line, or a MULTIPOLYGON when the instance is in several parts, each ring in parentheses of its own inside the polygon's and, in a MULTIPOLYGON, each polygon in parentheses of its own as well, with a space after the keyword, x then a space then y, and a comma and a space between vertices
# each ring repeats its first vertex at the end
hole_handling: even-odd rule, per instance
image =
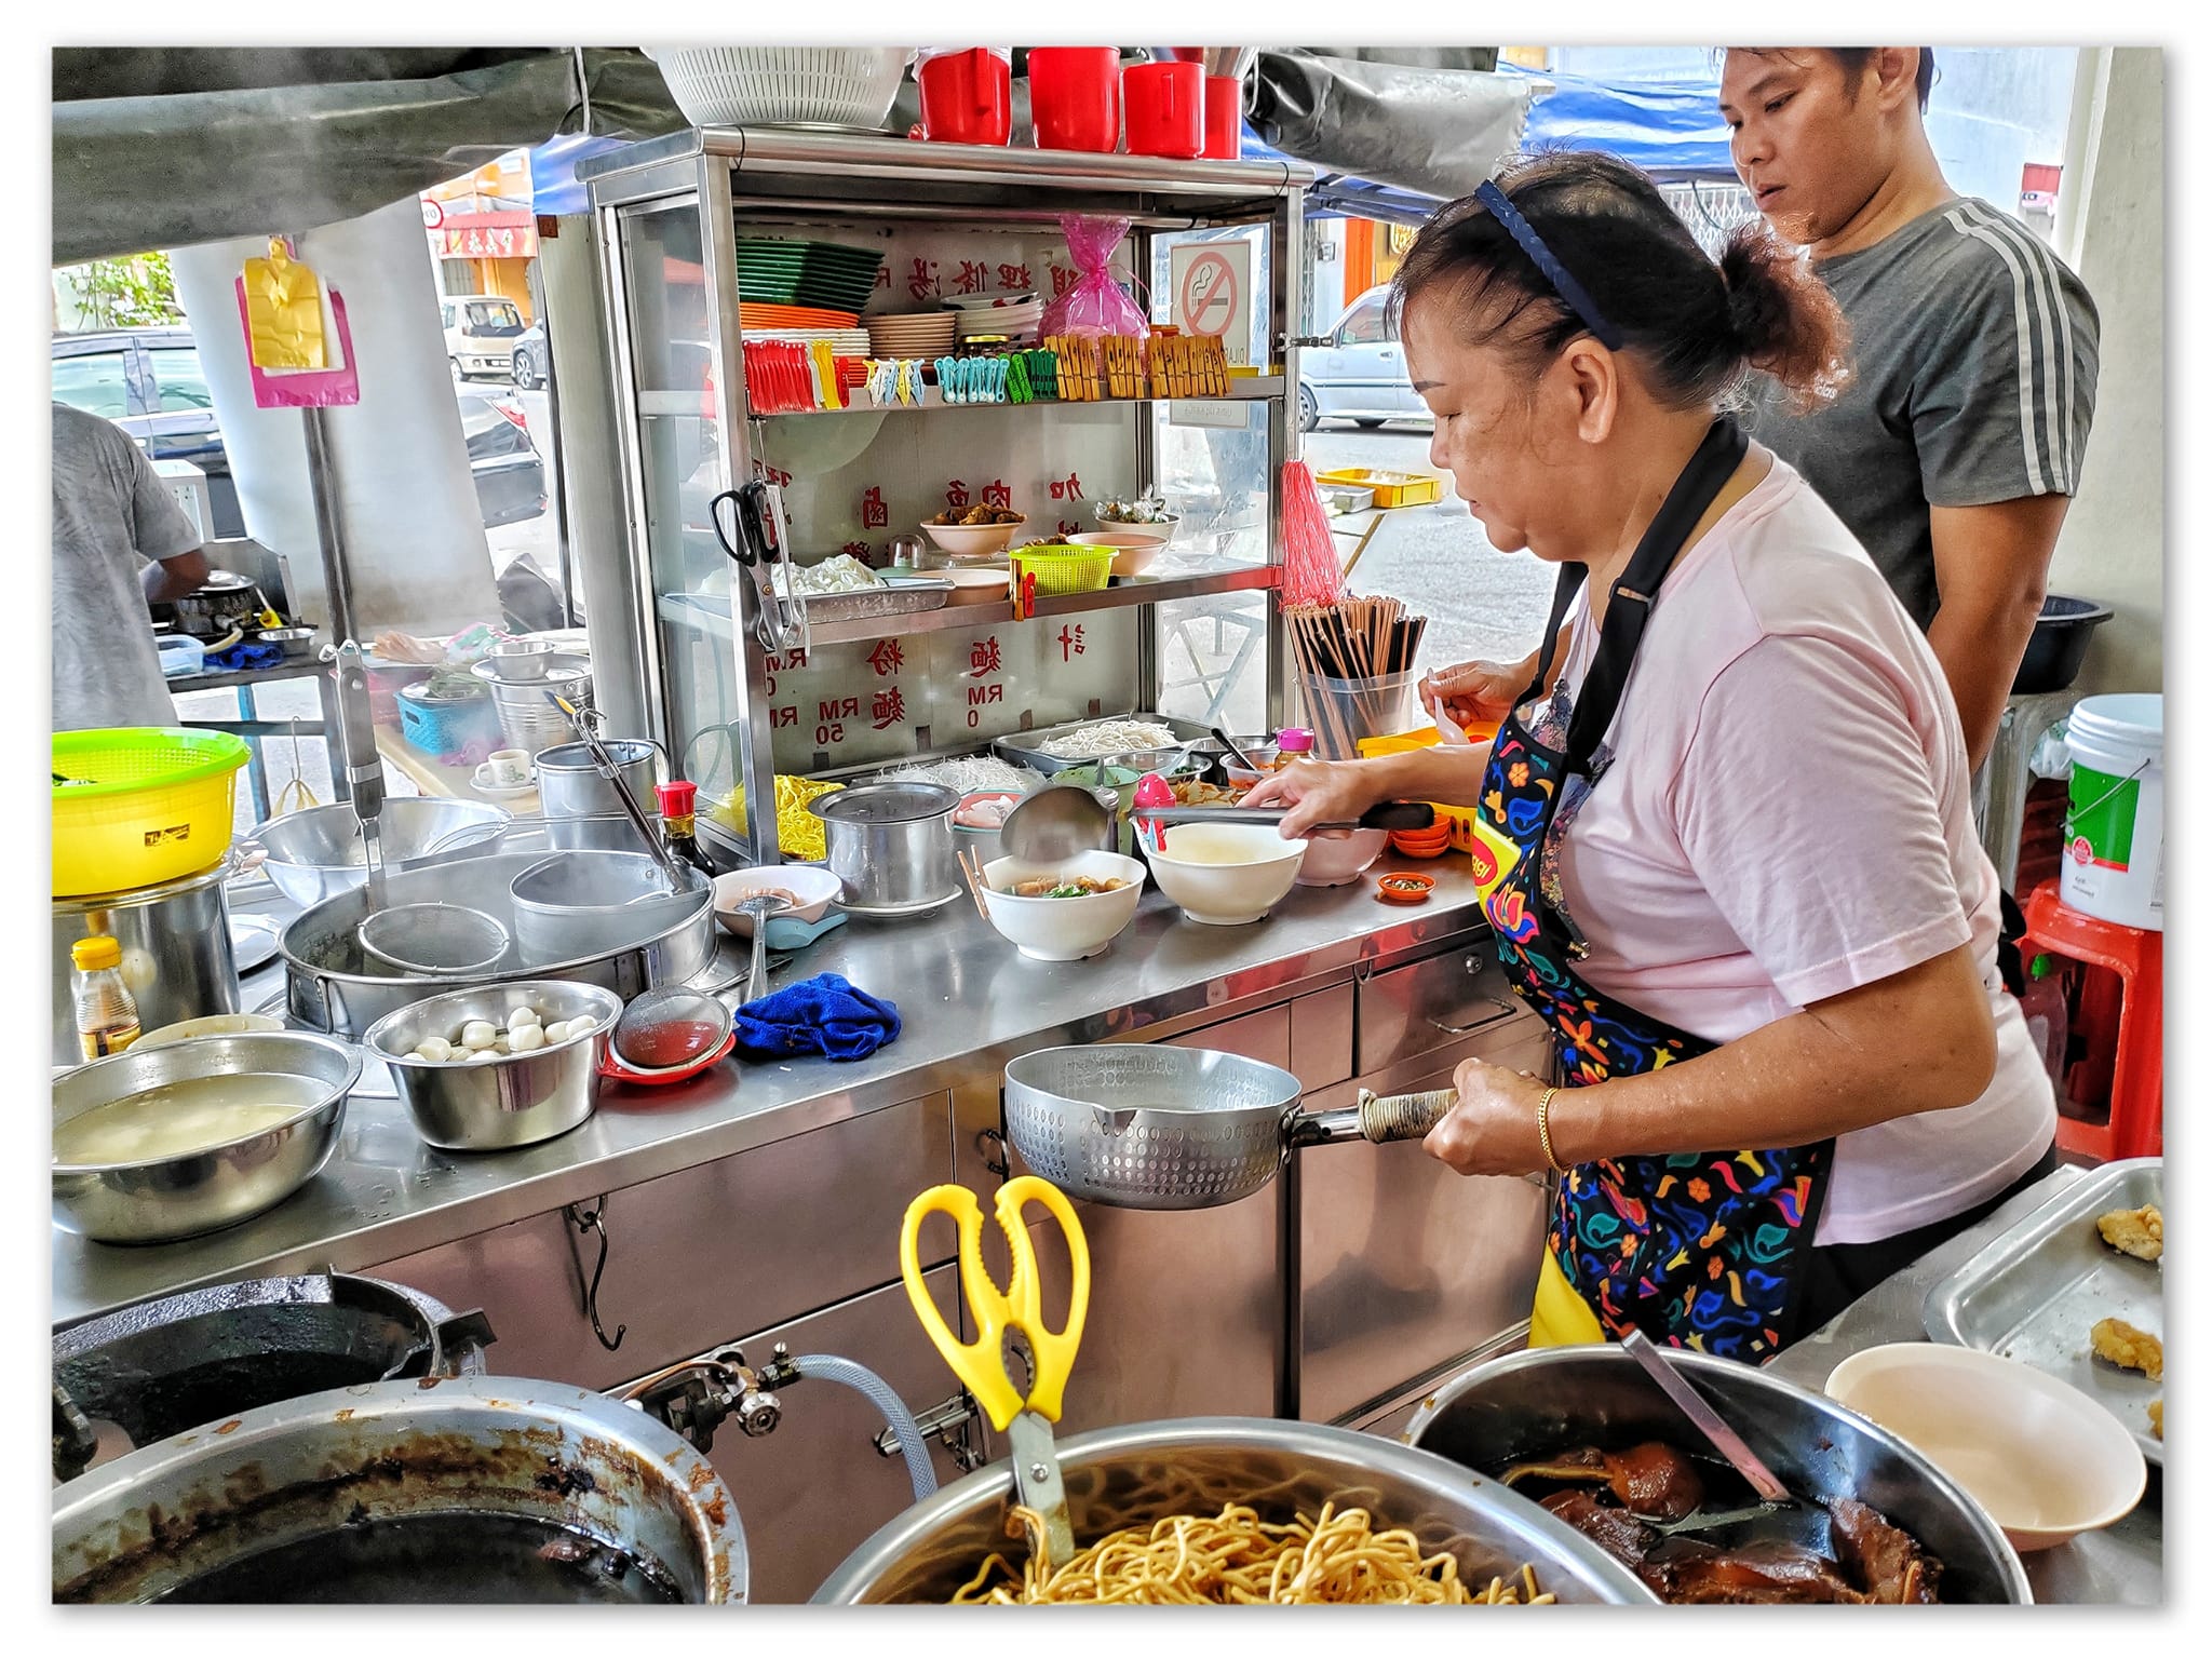
POLYGON ((199 531, 131 434, 55 403, 53 730, 175 726, 146 606, 206 580, 199 531))

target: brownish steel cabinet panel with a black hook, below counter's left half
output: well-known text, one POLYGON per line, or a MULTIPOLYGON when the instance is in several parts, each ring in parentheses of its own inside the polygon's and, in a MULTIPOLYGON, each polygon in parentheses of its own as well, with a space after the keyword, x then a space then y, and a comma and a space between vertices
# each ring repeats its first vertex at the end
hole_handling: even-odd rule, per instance
POLYGON ((907 1203, 951 1164, 951 1102, 929 1095, 608 1194, 597 1307, 608 1336, 628 1325, 617 1352, 584 1303, 599 1239, 566 1210, 369 1272, 482 1307, 495 1371, 606 1389, 894 1283, 907 1203))

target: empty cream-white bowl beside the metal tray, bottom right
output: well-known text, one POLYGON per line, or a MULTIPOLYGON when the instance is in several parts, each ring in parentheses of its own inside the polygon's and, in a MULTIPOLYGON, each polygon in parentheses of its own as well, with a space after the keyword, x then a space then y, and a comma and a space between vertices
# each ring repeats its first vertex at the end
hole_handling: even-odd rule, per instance
POLYGON ((2143 1498, 2135 1436, 2081 1389, 2000 1354, 1885 1343, 1829 1371, 1827 1396, 1911 1442, 2015 1551, 2110 1526, 2143 1498))

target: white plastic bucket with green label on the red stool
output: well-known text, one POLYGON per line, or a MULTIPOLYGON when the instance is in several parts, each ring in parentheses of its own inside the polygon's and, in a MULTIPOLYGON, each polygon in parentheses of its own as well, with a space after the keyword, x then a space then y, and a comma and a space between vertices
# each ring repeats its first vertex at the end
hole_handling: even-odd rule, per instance
POLYGON ((2166 699, 2084 697, 2066 719, 2073 783, 2059 898, 2121 927, 2166 931, 2166 699))

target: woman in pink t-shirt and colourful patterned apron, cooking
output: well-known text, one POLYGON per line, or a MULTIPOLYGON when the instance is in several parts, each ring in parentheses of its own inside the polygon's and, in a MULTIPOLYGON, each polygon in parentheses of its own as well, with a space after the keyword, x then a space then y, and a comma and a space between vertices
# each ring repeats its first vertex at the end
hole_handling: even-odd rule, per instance
POLYGON ((1546 644, 1486 754, 1301 765, 1248 801, 1285 836, 1478 810, 1482 907, 1564 1086, 1471 1060, 1427 1150, 1564 1177, 1533 1343, 1641 1327, 1763 1363, 2055 1161, 1942 670, 1721 414, 1752 365, 1832 392, 1836 305, 1759 226, 1714 265, 1595 155, 1442 208, 1394 303, 1431 458, 1493 546, 1559 566, 1546 644))

